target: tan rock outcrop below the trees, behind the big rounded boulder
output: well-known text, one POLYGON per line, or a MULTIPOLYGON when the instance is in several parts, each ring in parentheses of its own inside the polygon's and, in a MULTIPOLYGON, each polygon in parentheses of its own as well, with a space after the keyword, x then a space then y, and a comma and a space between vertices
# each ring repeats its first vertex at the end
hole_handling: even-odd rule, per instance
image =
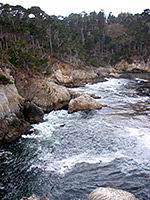
POLYGON ((89 82, 104 81, 105 77, 117 77, 118 74, 111 66, 106 67, 84 67, 84 69, 72 68, 65 65, 62 68, 61 64, 57 64, 57 67, 53 69, 53 75, 51 80, 59 85, 66 87, 79 87, 89 82))

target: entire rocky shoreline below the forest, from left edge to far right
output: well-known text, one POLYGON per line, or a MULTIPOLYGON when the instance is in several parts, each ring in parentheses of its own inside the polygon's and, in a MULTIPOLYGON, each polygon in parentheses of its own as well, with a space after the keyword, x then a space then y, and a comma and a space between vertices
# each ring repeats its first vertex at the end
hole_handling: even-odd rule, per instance
POLYGON ((118 78, 117 72, 133 73, 137 69, 138 72, 140 69, 141 72, 150 72, 150 61, 141 64, 137 61, 133 64, 122 61, 115 67, 84 69, 58 62, 52 69, 52 75, 45 78, 22 70, 12 73, 11 66, 2 66, 0 73, 8 77, 11 84, 0 84, 0 144, 15 141, 30 129, 32 123, 42 121, 44 113, 52 110, 67 109, 68 113, 72 113, 102 108, 103 105, 95 100, 97 97, 70 88, 104 81, 108 77, 118 78))

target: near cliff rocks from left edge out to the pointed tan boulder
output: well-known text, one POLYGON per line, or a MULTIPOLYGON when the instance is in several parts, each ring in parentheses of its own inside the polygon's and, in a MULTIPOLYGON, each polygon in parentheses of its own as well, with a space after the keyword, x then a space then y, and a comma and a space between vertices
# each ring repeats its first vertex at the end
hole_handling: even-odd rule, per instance
MULTIPOLYGON (((52 77, 41 78, 16 70, 13 78, 8 69, 9 66, 7 69, 1 68, 1 74, 11 82, 0 84, 0 144, 15 141, 22 133, 29 130, 32 123, 42 121, 44 113, 52 110, 69 107, 68 112, 71 113, 102 108, 102 105, 89 95, 85 96, 58 85, 54 83, 52 77), (78 106, 69 104, 73 99, 77 102, 79 96, 82 96, 83 104, 81 101, 78 106), (90 105, 89 99, 92 100, 90 105)), ((80 84, 83 81, 84 79, 80 84)))

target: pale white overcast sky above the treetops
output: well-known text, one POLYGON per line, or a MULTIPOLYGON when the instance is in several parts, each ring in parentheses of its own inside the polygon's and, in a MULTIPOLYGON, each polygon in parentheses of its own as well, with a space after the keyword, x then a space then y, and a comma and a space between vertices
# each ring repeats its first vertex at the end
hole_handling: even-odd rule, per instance
POLYGON ((150 0, 0 0, 0 2, 21 5, 25 8, 39 6, 47 14, 56 16, 101 10, 104 10, 106 15, 112 12, 117 16, 121 12, 135 14, 143 12, 144 9, 150 9, 150 0))

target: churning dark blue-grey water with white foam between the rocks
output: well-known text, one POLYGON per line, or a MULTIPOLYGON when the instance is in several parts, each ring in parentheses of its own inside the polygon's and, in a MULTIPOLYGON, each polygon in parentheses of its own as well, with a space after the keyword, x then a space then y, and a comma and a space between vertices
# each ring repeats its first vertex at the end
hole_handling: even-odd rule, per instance
POLYGON ((101 96, 98 101, 108 107, 53 111, 33 126, 34 133, 2 146, 0 199, 36 193, 51 200, 85 200, 100 186, 150 199, 150 101, 137 92, 135 78, 75 89, 101 96))

